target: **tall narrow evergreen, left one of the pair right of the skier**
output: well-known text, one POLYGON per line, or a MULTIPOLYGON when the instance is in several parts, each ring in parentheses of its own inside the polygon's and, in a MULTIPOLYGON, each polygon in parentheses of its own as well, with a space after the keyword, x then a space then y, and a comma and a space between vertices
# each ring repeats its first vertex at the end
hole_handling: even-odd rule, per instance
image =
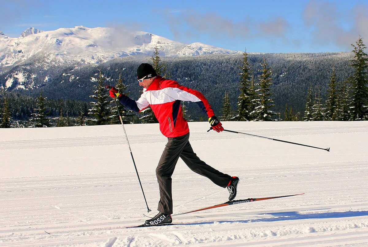
POLYGON ((238 97, 238 110, 234 120, 250 121, 252 120, 251 112, 254 111, 253 99, 255 99, 255 91, 252 83, 251 70, 248 62, 248 53, 243 52, 243 59, 239 67, 240 95, 238 97))

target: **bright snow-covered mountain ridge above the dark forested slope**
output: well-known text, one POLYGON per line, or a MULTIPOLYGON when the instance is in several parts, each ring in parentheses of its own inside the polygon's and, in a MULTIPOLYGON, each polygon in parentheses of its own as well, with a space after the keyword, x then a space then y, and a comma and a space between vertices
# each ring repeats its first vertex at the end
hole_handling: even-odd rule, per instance
POLYGON ((236 54, 202 43, 183 44, 141 31, 121 28, 60 28, 53 31, 29 28, 21 37, 0 36, 0 66, 14 66, 28 59, 46 63, 101 63, 118 57, 152 55, 157 46, 160 56, 236 54))

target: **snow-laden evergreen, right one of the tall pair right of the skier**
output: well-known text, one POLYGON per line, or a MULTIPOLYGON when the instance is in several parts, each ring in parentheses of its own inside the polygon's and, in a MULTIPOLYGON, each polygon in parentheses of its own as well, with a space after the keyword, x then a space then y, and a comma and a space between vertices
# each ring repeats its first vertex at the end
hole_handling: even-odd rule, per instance
POLYGON ((259 89, 255 90, 258 93, 258 97, 253 100, 256 107, 254 111, 251 112, 251 117, 254 121, 272 121, 276 120, 274 117, 279 114, 272 110, 271 107, 275 106, 273 104, 273 99, 270 98, 272 93, 270 92, 270 86, 272 85, 272 72, 268 67, 266 58, 263 58, 263 63, 261 63, 261 75, 259 76, 259 89))

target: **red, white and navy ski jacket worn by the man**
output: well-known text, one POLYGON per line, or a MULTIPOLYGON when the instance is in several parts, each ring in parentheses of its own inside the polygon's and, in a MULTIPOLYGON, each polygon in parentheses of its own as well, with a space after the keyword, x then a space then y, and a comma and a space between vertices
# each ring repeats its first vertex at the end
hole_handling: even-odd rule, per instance
POLYGON ((166 137, 180 137, 189 133, 188 122, 184 119, 181 110, 181 101, 195 102, 208 117, 215 116, 203 94, 161 76, 157 76, 148 88, 143 89, 143 93, 137 101, 126 95, 122 95, 119 101, 135 112, 140 112, 151 106, 159 121, 160 131, 166 137))

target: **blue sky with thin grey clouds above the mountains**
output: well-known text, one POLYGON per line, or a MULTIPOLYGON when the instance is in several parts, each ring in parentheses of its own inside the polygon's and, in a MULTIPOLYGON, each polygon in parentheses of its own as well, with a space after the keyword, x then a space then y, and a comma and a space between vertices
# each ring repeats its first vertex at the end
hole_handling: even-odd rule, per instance
POLYGON ((0 0, 0 31, 120 26, 247 52, 350 51, 368 41, 368 0, 0 0))

